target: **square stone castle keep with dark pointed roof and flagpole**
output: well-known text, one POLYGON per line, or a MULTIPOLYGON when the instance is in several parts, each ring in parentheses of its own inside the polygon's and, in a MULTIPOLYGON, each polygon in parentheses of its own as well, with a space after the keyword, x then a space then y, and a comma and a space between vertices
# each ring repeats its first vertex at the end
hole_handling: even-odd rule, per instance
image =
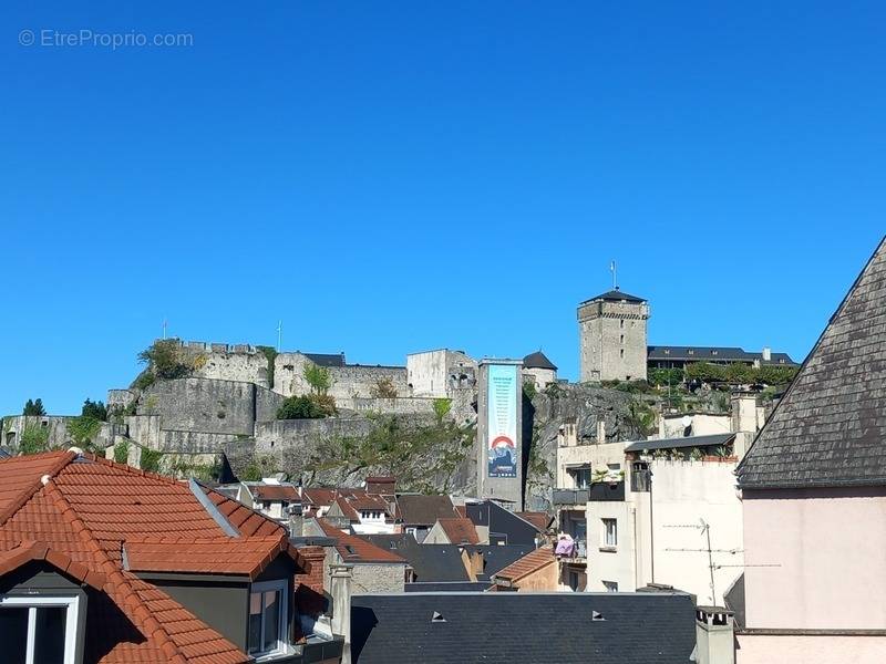
POLYGON ((646 380, 649 303, 618 288, 578 305, 579 380, 646 380))

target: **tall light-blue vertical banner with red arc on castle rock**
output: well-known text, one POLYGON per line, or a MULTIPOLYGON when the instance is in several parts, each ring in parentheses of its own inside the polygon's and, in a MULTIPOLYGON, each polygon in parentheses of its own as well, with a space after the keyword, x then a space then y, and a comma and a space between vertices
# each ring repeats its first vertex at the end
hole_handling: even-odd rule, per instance
POLYGON ((517 476, 517 369, 514 364, 491 364, 488 369, 488 477, 517 476))

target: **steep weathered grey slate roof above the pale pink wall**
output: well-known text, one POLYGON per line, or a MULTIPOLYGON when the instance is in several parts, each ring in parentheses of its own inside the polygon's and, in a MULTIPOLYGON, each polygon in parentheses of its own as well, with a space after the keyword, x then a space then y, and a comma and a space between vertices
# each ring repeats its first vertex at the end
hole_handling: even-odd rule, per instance
POLYGON ((750 489, 886 486, 886 239, 736 473, 750 489))

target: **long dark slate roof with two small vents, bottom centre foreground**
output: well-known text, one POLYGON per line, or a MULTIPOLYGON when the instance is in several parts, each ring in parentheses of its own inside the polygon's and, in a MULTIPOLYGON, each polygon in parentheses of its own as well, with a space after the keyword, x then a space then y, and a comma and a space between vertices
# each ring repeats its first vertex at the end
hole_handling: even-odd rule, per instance
POLYGON ((364 594, 351 634, 359 664, 689 664, 696 614, 684 593, 364 594))

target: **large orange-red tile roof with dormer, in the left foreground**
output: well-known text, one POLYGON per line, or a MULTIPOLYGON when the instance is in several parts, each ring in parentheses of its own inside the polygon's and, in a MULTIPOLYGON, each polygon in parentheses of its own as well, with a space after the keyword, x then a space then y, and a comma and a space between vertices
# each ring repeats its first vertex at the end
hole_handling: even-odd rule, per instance
MULTIPOLYGON (((204 559, 206 571, 215 573, 224 573, 228 561, 240 554, 248 564, 237 559, 231 567, 251 566, 262 547, 259 567, 265 557, 282 550, 286 532, 280 526, 217 491, 205 491, 241 537, 227 537, 188 486, 169 478, 63 452, 4 459, 0 573, 21 564, 22 557, 43 556, 59 569, 64 566, 64 573, 101 587, 102 593, 91 596, 87 605, 89 624, 101 629, 87 627, 85 664, 249 662, 237 646, 123 566, 126 542, 137 542, 136 549, 143 547, 140 553, 150 559, 145 542, 158 536, 238 542, 237 552, 216 556, 212 564, 204 559)), ((172 551, 169 567, 196 564, 199 557, 198 551, 182 554, 179 564, 169 560, 172 551)), ((162 567, 156 558, 153 564, 162 567)))

